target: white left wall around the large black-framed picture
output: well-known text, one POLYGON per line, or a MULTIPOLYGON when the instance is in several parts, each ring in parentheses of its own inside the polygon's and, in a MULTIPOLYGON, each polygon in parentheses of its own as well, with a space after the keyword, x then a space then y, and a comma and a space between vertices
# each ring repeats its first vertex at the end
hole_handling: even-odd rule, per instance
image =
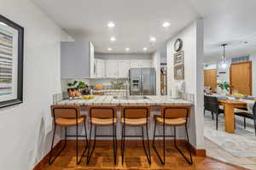
POLYGON ((0 109, 0 169, 31 170, 50 149, 49 106, 61 92, 60 41, 72 38, 29 0, 0 3, 1 14, 25 28, 24 103, 0 109))

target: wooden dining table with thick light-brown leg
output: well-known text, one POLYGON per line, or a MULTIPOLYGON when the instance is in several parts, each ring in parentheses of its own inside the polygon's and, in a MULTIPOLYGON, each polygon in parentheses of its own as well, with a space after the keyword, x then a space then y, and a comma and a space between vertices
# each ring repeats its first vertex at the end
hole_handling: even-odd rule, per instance
POLYGON ((218 99, 219 105, 224 106, 225 132, 235 133, 235 111, 234 108, 247 108, 247 103, 236 100, 218 99))

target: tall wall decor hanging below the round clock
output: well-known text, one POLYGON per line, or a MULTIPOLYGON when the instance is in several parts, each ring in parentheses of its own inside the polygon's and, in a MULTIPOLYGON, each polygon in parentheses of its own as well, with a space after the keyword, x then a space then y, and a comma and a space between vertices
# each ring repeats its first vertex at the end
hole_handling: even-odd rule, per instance
POLYGON ((184 55, 183 51, 177 52, 173 56, 174 79, 184 79, 184 55))

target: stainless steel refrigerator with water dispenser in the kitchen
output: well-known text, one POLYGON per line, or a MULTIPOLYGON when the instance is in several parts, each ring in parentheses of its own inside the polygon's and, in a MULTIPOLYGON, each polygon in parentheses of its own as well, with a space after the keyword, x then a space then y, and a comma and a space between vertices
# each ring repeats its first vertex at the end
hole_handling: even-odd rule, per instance
POLYGON ((154 68, 129 70, 130 95, 155 95, 154 68))

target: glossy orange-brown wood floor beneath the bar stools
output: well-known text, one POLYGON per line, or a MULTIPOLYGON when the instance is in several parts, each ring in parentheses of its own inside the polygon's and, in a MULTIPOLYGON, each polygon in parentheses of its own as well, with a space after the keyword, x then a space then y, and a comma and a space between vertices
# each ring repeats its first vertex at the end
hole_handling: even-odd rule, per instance
MULTIPOLYGON (((82 148, 80 149, 80 151, 82 148)), ((187 150, 184 150, 187 151, 187 150)), ((186 152, 187 153, 187 152, 186 152)), ((86 165, 85 158, 80 165, 76 165, 75 144, 67 144, 52 165, 46 165, 44 170, 84 170, 84 169, 175 169, 175 170, 236 170, 244 169, 231 166, 229 164, 216 161, 209 157, 193 157, 194 164, 190 166, 183 157, 175 150, 170 148, 166 150, 166 165, 162 166, 154 150, 151 150, 152 164, 148 165, 142 147, 127 146, 125 148, 125 163, 122 165, 120 150, 118 151, 118 164, 113 164, 113 150, 110 146, 96 146, 96 150, 91 157, 90 164, 86 165)))

